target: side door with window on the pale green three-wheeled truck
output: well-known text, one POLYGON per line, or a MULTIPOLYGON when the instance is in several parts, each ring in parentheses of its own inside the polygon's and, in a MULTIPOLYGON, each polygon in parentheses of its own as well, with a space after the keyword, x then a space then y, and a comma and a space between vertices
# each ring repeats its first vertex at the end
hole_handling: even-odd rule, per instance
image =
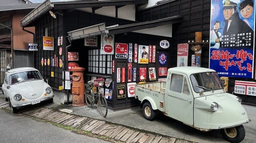
POLYGON ((169 77, 170 81, 168 84, 166 82, 165 89, 165 112, 173 119, 193 125, 193 96, 188 79, 186 75, 174 73, 169 77))

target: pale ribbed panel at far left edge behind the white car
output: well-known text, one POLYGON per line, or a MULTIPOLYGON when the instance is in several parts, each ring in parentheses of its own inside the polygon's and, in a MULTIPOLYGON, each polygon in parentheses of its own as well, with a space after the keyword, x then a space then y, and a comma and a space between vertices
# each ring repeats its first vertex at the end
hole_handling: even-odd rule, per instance
POLYGON ((4 81, 4 73, 7 65, 10 64, 10 50, 0 50, 0 86, 4 81))

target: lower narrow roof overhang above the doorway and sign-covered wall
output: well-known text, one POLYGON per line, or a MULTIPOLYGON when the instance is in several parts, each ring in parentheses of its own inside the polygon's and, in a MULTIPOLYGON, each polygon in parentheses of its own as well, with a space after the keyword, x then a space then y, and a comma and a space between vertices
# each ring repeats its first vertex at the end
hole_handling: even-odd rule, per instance
POLYGON ((132 32, 140 29, 153 28, 153 27, 162 26, 166 24, 179 23, 182 21, 182 18, 183 18, 182 16, 176 15, 176 16, 161 18, 161 19, 152 20, 152 21, 138 22, 138 23, 120 25, 120 26, 109 26, 109 27, 105 27, 105 23, 99 23, 96 25, 69 31, 67 33, 70 40, 96 36, 100 34, 114 35, 114 34, 132 32))

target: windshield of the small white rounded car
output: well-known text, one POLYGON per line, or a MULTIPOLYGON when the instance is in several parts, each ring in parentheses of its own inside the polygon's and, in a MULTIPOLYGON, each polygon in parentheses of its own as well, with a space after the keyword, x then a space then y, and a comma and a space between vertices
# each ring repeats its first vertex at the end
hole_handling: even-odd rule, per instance
POLYGON ((30 81, 30 80, 41 80, 42 77, 39 74, 38 71, 25 71, 20 73, 15 73, 9 76, 9 83, 15 84, 20 83, 24 81, 30 81))

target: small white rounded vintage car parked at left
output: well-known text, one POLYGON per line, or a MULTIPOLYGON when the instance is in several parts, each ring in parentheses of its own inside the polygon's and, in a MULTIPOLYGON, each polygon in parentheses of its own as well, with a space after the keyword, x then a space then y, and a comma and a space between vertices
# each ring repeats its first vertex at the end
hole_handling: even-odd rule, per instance
POLYGON ((17 108, 42 101, 53 102, 53 91, 35 68, 21 67, 5 72, 2 94, 13 113, 17 108))

